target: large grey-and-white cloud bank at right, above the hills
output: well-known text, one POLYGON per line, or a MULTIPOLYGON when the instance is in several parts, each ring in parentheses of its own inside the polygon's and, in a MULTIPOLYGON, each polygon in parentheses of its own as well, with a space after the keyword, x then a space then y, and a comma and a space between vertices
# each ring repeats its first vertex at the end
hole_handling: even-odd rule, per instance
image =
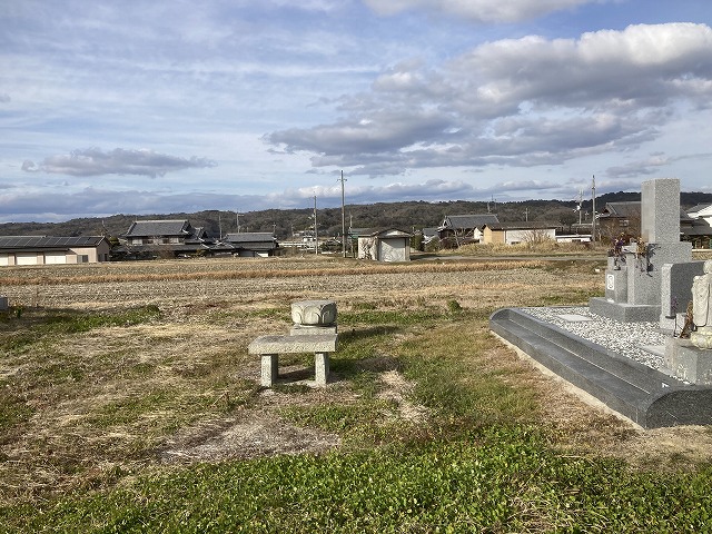
POLYGON ((436 70, 399 65, 370 92, 345 98, 338 121, 266 140, 313 152, 316 167, 369 176, 560 165, 655 139, 672 102, 704 108, 710 97, 712 30, 704 24, 635 26, 578 40, 532 36, 484 43, 436 70))

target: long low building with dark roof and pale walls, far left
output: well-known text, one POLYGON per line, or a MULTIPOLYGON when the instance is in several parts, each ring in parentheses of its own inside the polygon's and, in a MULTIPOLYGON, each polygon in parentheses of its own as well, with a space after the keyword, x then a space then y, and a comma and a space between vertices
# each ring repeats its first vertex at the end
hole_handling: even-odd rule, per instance
POLYGON ((96 264, 110 250, 103 236, 0 236, 0 266, 96 264))

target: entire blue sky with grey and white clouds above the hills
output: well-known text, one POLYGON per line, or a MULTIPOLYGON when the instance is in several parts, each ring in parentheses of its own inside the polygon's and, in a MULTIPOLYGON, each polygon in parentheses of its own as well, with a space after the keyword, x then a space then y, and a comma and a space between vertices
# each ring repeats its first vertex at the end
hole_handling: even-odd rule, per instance
POLYGON ((712 192, 710 0, 4 0, 0 221, 712 192))

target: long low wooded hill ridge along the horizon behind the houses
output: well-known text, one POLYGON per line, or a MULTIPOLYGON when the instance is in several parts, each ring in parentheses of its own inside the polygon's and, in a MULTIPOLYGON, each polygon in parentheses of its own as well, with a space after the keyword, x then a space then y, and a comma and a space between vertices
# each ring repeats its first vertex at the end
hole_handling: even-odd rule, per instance
MULTIPOLYGON (((606 202, 640 200, 640 192, 606 192, 596 197, 596 209, 606 202)), ((712 204, 712 194, 682 192, 683 208, 698 204, 712 204)), ((578 221, 576 202, 573 200, 523 200, 517 202, 474 202, 454 200, 447 202, 377 202, 369 205, 346 205, 346 227, 374 228, 392 226, 404 230, 438 226, 447 215, 496 214, 501 221, 546 220, 564 226, 578 221)), ((306 230, 313 224, 313 210, 266 209, 239 215, 241 231, 275 231, 278 239, 285 239, 293 231, 306 230)), ((582 202, 582 220, 591 217, 591 199, 582 202)), ((63 222, 4 222, 0 224, 2 236, 120 236, 131 222, 141 219, 188 219, 194 227, 204 227, 208 235, 219 236, 237 231, 235 211, 196 211, 192 214, 112 215, 100 218, 78 218, 63 222)), ((322 236, 338 236, 342 233, 342 208, 317 209, 317 222, 322 236)))

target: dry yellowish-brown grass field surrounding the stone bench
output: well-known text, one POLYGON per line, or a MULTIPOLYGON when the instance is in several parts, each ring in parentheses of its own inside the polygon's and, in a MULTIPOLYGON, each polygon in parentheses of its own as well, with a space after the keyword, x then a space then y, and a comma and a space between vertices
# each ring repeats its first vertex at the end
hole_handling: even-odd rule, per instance
POLYGON ((500 307, 585 304, 603 291, 603 266, 307 257, 3 268, 12 313, 0 322, 0 503, 110 488, 195 462, 426 435, 437 409, 414 394, 423 378, 402 366, 419 354, 453 362, 455 382, 491 377, 508 392, 497 400, 506 406, 487 400, 468 422, 511 409, 581 454, 662 468, 708 461, 705 428, 636 428, 488 333, 500 307), (289 304, 312 298, 338 306, 333 382, 304 386, 310 360, 296 356, 280 372, 297 382, 260 388, 248 343, 286 333, 289 304))

